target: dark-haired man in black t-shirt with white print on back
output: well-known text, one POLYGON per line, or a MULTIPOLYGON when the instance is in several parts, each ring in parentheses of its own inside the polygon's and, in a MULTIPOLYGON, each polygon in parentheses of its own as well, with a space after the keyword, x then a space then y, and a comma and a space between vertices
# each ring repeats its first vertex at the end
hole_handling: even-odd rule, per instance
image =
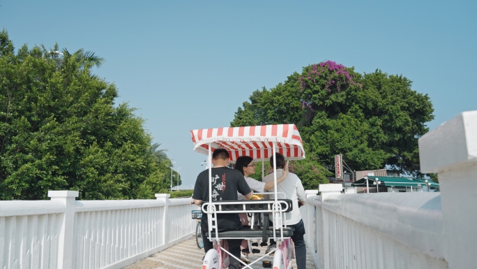
MULTIPOLYGON (((209 180, 209 170, 199 173, 195 182, 194 194, 192 199, 194 203, 199 205, 202 201, 209 201, 209 182, 212 182, 212 201, 237 201, 237 191, 243 194, 246 199, 253 196, 253 192, 248 187, 245 178, 239 170, 227 168, 229 164, 229 152, 225 149, 218 149, 212 155, 212 178, 209 180)), ((242 224, 239 214, 227 213, 217 215, 218 231, 234 231, 241 230, 242 224)), ((209 222, 206 214, 202 214, 202 238, 204 238, 204 251, 207 253, 213 248, 212 242, 206 238, 209 231, 209 222)), ((229 252, 240 259, 241 239, 228 239, 229 252)), ((236 259, 230 257, 230 266, 240 268, 240 263, 236 259)))

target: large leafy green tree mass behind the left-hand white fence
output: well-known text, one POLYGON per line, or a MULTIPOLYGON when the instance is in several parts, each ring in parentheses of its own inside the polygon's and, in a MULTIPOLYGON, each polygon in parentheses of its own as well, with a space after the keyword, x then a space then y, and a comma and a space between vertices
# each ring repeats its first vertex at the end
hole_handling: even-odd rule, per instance
POLYGON ((81 199, 153 198, 167 189, 167 157, 155 154, 144 119, 116 106, 114 84, 91 72, 104 60, 57 50, 23 45, 15 54, 0 32, 0 198, 59 189, 81 199))

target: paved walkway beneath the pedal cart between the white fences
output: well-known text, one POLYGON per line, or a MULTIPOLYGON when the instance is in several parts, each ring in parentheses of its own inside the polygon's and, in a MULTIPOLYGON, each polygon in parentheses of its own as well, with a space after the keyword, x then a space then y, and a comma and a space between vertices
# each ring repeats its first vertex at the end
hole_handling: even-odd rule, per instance
MULTIPOLYGON (((255 261, 259 255, 263 255, 266 249, 266 247, 254 248, 258 248, 261 251, 260 254, 249 254, 250 261, 255 261)), ((195 244, 195 237, 192 237, 123 269, 200 269, 204 254, 204 249, 199 249, 195 244)), ((268 256, 265 261, 273 261, 273 257, 268 256)), ((296 269, 295 259, 292 266, 296 269)), ((262 269, 262 262, 259 261, 253 268, 262 269)), ((306 269, 315 269, 310 260, 310 254, 307 254, 306 269)))

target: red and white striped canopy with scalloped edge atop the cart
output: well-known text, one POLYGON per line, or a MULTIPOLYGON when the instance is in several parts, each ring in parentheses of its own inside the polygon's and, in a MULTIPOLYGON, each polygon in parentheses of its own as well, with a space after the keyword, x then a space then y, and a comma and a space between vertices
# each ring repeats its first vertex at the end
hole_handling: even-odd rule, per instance
POLYGON ((300 133, 295 124, 197 129, 190 133, 194 151, 209 154, 211 143, 212 152, 219 148, 228 150, 232 163, 241 156, 250 156, 255 161, 268 160, 273 154, 273 142, 276 143, 275 150, 283 154, 285 159, 305 159, 300 133))

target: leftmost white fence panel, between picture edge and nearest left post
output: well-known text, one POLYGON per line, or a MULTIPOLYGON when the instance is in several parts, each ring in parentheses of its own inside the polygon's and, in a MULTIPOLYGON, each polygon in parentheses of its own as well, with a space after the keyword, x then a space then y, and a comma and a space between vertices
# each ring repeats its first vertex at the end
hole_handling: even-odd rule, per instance
POLYGON ((1 268, 57 268, 64 212, 58 201, 0 201, 1 268))

